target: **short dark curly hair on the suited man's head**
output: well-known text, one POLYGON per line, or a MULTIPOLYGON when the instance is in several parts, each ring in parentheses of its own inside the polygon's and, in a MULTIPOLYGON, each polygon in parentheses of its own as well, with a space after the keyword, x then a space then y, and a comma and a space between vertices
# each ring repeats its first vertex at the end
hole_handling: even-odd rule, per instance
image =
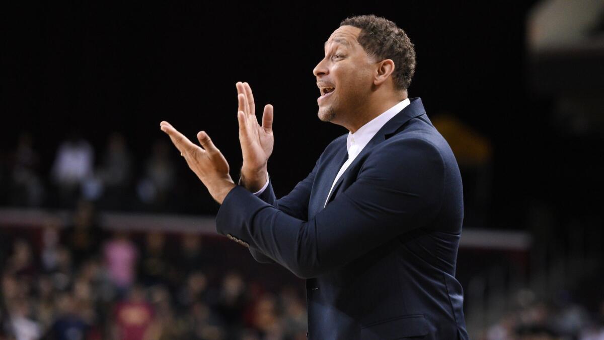
POLYGON ((415 73, 416 55, 413 43, 394 22, 374 15, 359 15, 346 18, 340 26, 361 28, 357 41, 367 54, 379 60, 392 59, 394 85, 406 90, 415 73))

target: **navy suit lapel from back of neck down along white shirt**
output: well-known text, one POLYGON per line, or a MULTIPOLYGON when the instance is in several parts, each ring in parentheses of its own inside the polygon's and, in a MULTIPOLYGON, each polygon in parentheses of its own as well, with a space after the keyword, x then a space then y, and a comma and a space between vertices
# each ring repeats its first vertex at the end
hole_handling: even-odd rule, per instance
MULTIPOLYGON (((325 204, 325 201, 327 199, 329 199, 327 201, 327 203, 329 203, 329 201, 331 201, 333 199, 333 196, 338 191, 338 188, 342 184, 344 177, 346 177, 348 174, 350 174, 350 169, 353 169, 355 167, 355 165, 358 164, 358 162, 360 162, 361 159, 364 158, 364 155, 368 154, 368 152, 370 152, 371 149, 374 148, 374 146, 378 145, 381 142, 384 142, 384 140, 391 137, 400 128, 400 126, 404 125, 410 119, 417 117, 417 116, 421 116, 422 114, 425 114, 425 113, 426 113, 426 110, 424 110, 424 108, 423 108, 422 99, 419 97, 411 98, 411 103, 409 105, 407 105, 405 108, 403 108, 403 110, 401 110, 399 113, 397 113, 396 116, 394 116, 390 120, 388 120, 388 122, 385 123, 384 126, 382 126, 382 128, 377 131, 377 133, 375 134, 375 136, 373 136, 373 138, 369 141, 369 143, 367 143, 367 145, 365 145, 365 148, 362 149, 361 153, 359 153, 359 155, 356 156, 355 160, 353 160, 353 162, 350 163, 350 165, 346 169, 346 171, 344 171, 344 173, 338 178, 338 181, 333 186, 333 190, 332 190, 331 194, 329 194, 329 198, 327 198, 329 189, 332 187, 331 184, 333 183, 333 180, 335 179, 336 175, 338 174, 339 169, 342 167, 342 164, 344 164, 345 159, 344 159, 344 161, 342 161, 342 163, 340 163, 338 168, 335 169, 335 172, 333 172, 333 176, 331 177, 332 182, 329 183, 329 187, 326 188, 325 194, 321 195, 323 198, 323 204, 325 204)), ((333 162, 331 162, 331 163, 333 163, 333 162)), ((323 209, 323 206, 321 206, 321 209, 323 209)))

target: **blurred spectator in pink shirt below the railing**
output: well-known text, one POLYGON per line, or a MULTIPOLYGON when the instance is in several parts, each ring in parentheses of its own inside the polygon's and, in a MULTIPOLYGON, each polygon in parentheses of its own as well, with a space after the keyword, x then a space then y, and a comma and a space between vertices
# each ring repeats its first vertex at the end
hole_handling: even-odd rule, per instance
MULTIPOLYGON (((123 231, 115 232, 114 237, 104 244, 103 255, 109 279, 123 296, 132 286, 136 275, 138 250, 123 231)), ((140 292, 137 292, 140 293, 140 292)), ((138 295, 132 295, 139 298, 138 295)))

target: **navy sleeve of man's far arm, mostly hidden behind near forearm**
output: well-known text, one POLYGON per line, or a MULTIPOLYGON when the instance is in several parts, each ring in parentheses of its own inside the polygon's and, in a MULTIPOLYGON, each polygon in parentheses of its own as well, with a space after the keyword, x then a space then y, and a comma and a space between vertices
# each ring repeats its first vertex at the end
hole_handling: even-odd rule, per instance
MULTIPOLYGON (((310 200, 310 189, 312 189, 312 183, 315 180, 316 169, 318 168, 318 162, 315 168, 312 169, 309 175, 300 181, 294 189, 286 196, 281 197, 277 200, 275 192, 272 189, 271 177, 269 176, 268 187, 258 197, 268 204, 271 204, 275 209, 283 211, 285 214, 300 220, 308 219, 308 203, 310 200)), ((260 263, 274 263, 270 257, 267 257, 260 249, 254 246, 249 247, 254 260, 260 263)))

